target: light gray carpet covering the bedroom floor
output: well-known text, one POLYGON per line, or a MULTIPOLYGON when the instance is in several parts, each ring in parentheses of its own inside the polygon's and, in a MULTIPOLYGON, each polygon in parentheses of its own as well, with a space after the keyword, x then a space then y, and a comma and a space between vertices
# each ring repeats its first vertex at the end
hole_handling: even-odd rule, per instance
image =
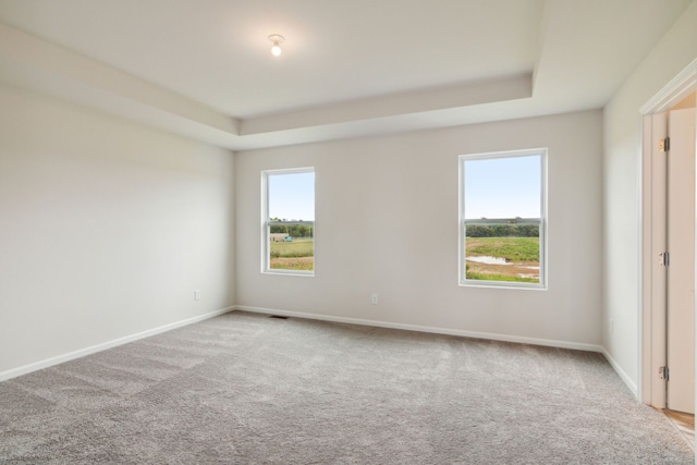
POLYGON ((0 463, 693 464, 599 354, 227 314, 0 383, 0 463))

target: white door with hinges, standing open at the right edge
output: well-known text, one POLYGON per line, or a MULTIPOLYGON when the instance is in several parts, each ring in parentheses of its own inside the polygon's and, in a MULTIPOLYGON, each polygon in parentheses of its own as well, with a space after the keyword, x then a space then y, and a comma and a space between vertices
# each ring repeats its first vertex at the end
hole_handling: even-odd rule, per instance
POLYGON ((668 408, 695 413, 695 109, 668 117, 668 408))

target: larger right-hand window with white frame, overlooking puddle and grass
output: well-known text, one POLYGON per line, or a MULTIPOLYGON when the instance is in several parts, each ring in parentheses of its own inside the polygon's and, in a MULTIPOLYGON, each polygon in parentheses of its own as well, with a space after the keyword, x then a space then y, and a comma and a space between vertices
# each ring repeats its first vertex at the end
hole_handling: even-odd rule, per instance
POLYGON ((545 287, 547 150, 460 157, 460 282, 545 287))

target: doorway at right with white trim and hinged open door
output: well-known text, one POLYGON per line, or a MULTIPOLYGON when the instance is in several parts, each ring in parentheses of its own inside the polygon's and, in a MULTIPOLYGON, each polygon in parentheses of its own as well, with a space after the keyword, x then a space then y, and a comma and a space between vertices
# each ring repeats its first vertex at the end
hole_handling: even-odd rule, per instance
MULTIPOLYGON (((639 397, 695 412, 697 62, 645 108, 639 397)), ((693 426, 694 430, 694 426, 693 426)))

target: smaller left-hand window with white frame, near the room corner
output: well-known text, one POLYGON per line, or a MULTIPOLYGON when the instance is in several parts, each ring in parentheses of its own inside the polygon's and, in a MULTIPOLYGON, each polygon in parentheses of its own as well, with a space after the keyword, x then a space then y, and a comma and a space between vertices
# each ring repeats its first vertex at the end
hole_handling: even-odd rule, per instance
POLYGON ((315 273, 315 170, 264 171, 261 270, 315 273))

